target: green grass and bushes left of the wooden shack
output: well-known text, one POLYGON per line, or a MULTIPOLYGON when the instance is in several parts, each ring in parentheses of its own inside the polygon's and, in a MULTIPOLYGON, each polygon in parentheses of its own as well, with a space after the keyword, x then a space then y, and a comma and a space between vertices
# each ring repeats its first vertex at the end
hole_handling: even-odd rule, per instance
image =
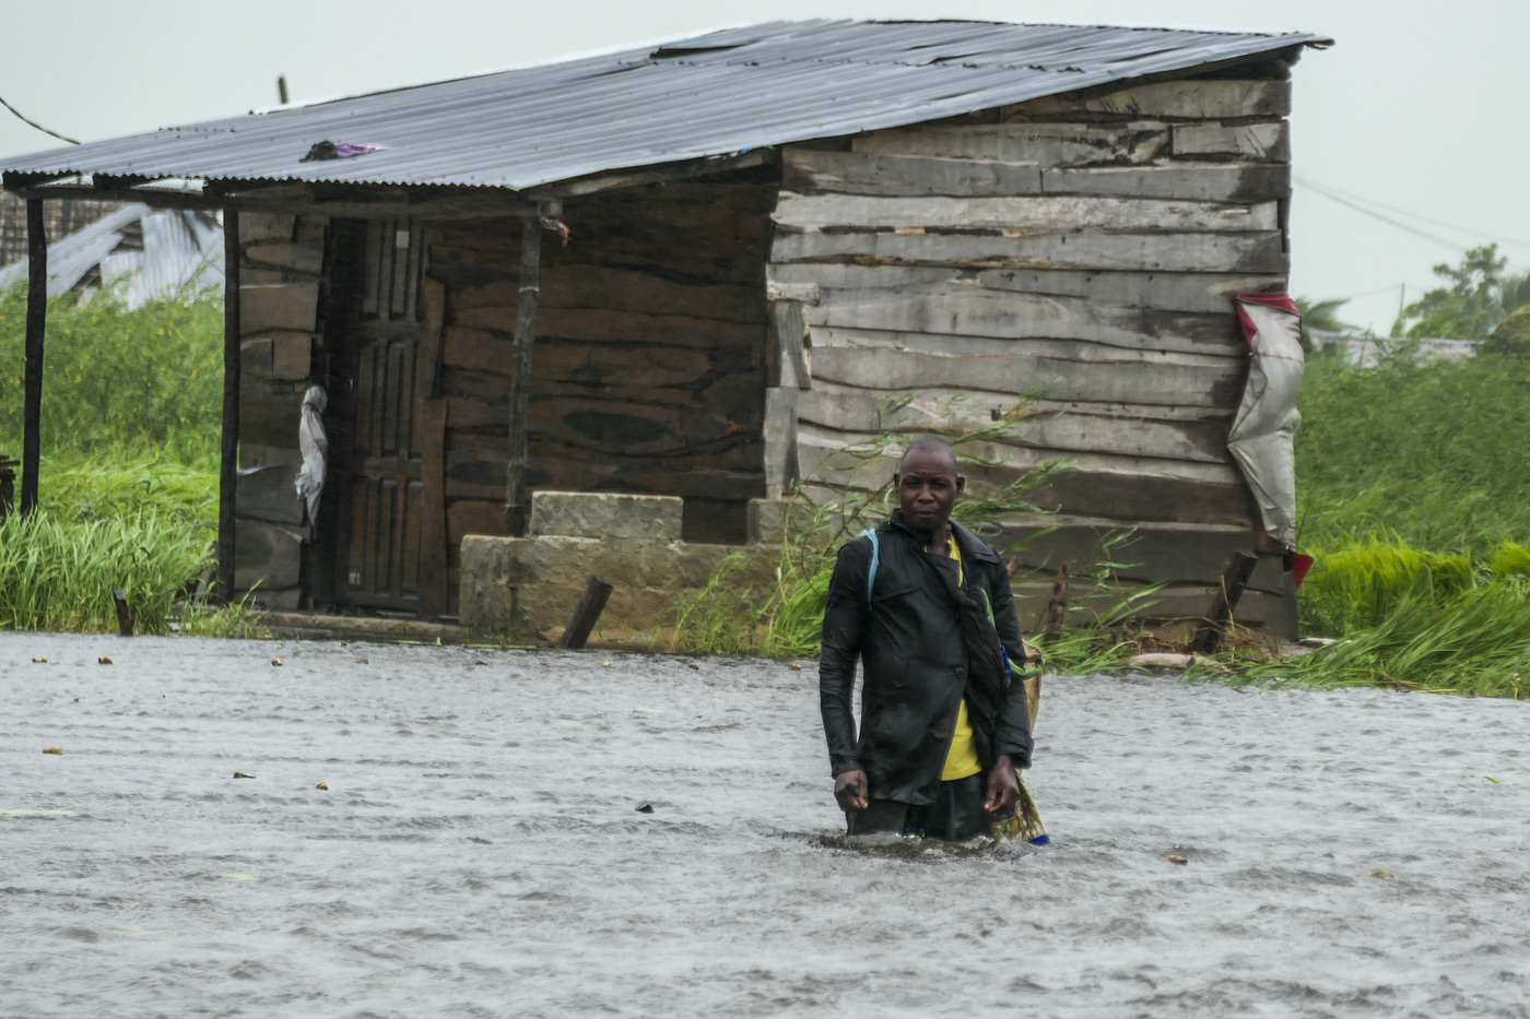
MULTIPOLYGON (((0 295, 0 451, 21 451, 26 301, 0 295)), ((213 566, 222 306, 211 294, 129 309, 49 301, 40 508, 0 522, 0 627, 249 633, 194 594, 213 566), (177 607, 179 603, 179 607, 177 607)))

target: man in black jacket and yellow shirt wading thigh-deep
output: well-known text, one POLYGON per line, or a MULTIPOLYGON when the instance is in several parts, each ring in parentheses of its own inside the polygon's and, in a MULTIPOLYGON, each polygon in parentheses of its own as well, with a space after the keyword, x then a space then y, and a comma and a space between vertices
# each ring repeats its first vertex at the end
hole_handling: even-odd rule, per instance
POLYGON ((1031 762, 1025 689, 999 653, 1025 661, 1021 624, 1004 562, 950 519, 965 488, 952 447, 912 441, 892 483, 900 508, 840 549, 829 580, 819 692, 834 799, 852 835, 965 842, 1014 812, 1031 762))

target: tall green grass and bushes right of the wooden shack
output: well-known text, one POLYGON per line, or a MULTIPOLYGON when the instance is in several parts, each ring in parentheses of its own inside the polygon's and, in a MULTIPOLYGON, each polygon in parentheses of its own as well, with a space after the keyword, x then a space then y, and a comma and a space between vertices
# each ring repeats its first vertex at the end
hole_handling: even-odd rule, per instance
POLYGON ((1530 695, 1530 361, 1319 355, 1300 410, 1302 629, 1337 643, 1248 676, 1530 695))

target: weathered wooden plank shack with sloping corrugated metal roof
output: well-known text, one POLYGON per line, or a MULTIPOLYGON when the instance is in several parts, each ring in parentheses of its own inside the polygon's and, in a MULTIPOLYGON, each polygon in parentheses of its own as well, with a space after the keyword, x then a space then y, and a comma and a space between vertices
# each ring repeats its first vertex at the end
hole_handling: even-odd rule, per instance
POLYGON ((1169 583, 1163 614, 1204 614, 1256 551, 1244 621, 1290 630, 1290 549, 1227 451, 1232 297, 1285 288, 1290 66, 1323 43, 782 23, 43 153, 5 184, 225 210, 225 583, 269 604, 456 615, 462 537, 517 532, 537 490, 681 496, 687 542, 744 543, 751 499, 861 465, 837 450, 1027 399, 1042 416, 968 470, 1076 464, 1039 496, 1057 516, 1007 522, 1053 528, 1017 594, 1129 529, 1123 577, 1169 583), (438 125, 470 113, 482 136, 438 125), (326 158, 340 130, 364 151, 326 158))

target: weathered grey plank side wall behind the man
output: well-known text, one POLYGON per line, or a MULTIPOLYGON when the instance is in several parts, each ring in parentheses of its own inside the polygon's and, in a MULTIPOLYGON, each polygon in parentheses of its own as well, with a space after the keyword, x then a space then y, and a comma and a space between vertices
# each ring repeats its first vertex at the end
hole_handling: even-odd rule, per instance
MULTIPOLYGON (((990 444, 1004 467, 967 470, 982 490, 1077 464, 1040 494, 1059 517, 1008 520, 1060 525, 1025 566, 1138 528, 1128 574, 1174 581, 1164 615, 1204 612, 1226 557, 1258 543, 1226 448, 1247 370, 1229 298, 1285 288, 1288 112, 1287 81, 1175 81, 788 147, 770 280, 809 330, 803 474, 849 476, 834 450, 878 427, 959 433, 1031 393, 1047 418, 990 444), (912 402, 887 416, 895 393, 912 402)), ((1043 577, 1016 580, 1039 606, 1043 577)), ((1255 586, 1281 595, 1278 565, 1255 586)))

